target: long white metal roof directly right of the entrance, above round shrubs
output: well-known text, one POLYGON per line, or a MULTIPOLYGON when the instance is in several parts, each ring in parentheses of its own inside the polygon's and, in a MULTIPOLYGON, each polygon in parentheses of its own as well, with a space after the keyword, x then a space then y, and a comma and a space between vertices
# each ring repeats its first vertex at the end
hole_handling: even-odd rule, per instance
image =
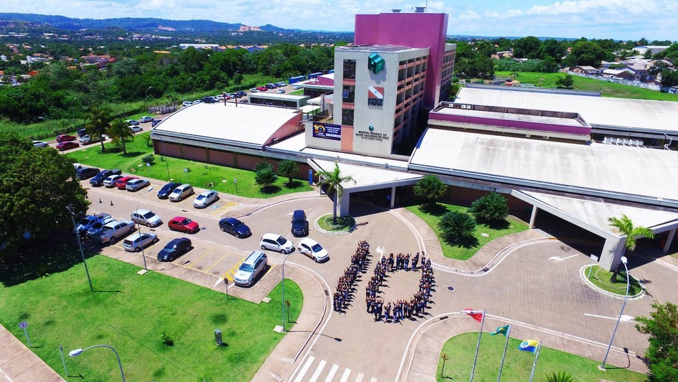
POLYGON ((565 185, 571 191, 584 188, 678 201, 678 152, 668 150, 429 128, 410 163, 417 170, 460 176, 468 172, 469 177, 514 184, 530 181, 555 189, 565 185))

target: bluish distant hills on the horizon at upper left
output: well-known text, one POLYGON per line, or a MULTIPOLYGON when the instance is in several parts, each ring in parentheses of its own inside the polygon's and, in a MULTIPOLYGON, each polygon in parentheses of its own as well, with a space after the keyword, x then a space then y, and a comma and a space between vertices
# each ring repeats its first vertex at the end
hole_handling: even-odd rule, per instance
MULTIPOLYGON (((209 20, 167 20, 154 18, 132 18, 125 17, 121 19, 73 19, 64 16, 52 16, 44 14, 31 13, 0 13, 0 21, 10 22, 29 22, 52 26, 63 30, 81 30, 81 29, 105 29, 121 28, 124 30, 150 30, 157 29, 158 26, 165 28, 174 28, 176 30, 192 30, 196 32, 215 32, 219 30, 238 30, 243 24, 220 23, 209 20)), ((267 24, 260 27, 267 32, 284 32, 284 28, 278 28, 267 24)))

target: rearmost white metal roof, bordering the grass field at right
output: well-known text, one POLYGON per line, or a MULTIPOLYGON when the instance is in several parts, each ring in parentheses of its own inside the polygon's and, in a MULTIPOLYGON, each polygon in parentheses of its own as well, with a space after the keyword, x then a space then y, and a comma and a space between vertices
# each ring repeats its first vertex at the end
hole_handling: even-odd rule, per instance
POLYGON ((577 112, 590 125, 678 132, 678 102, 462 88, 455 103, 577 112))

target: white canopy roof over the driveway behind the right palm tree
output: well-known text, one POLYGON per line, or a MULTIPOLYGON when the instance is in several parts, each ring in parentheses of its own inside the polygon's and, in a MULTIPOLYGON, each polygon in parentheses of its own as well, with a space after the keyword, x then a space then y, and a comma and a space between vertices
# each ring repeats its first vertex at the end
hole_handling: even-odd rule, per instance
POLYGON ((650 229, 678 219, 678 213, 675 212, 607 203, 602 200, 575 199, 572 197, 544 194, 543 192, 521 192, 565 212, 570 217, 615 236, 619 236, 619 232, 610 227, 610 222, 608 221, 610 217, 621 218, 622 214, 625 214, 633 221, 634 225, 650 229))

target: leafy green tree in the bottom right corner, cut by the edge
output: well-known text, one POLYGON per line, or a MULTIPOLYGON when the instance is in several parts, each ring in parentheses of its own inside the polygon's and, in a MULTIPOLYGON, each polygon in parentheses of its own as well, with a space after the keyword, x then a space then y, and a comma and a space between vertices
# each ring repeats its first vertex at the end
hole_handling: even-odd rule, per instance
POLYGON ((678 381, 678 307, 672 303, 652 304, 650 317, 636 317, 635 328, 649 334, 645 359, 648 381, 678 381))

